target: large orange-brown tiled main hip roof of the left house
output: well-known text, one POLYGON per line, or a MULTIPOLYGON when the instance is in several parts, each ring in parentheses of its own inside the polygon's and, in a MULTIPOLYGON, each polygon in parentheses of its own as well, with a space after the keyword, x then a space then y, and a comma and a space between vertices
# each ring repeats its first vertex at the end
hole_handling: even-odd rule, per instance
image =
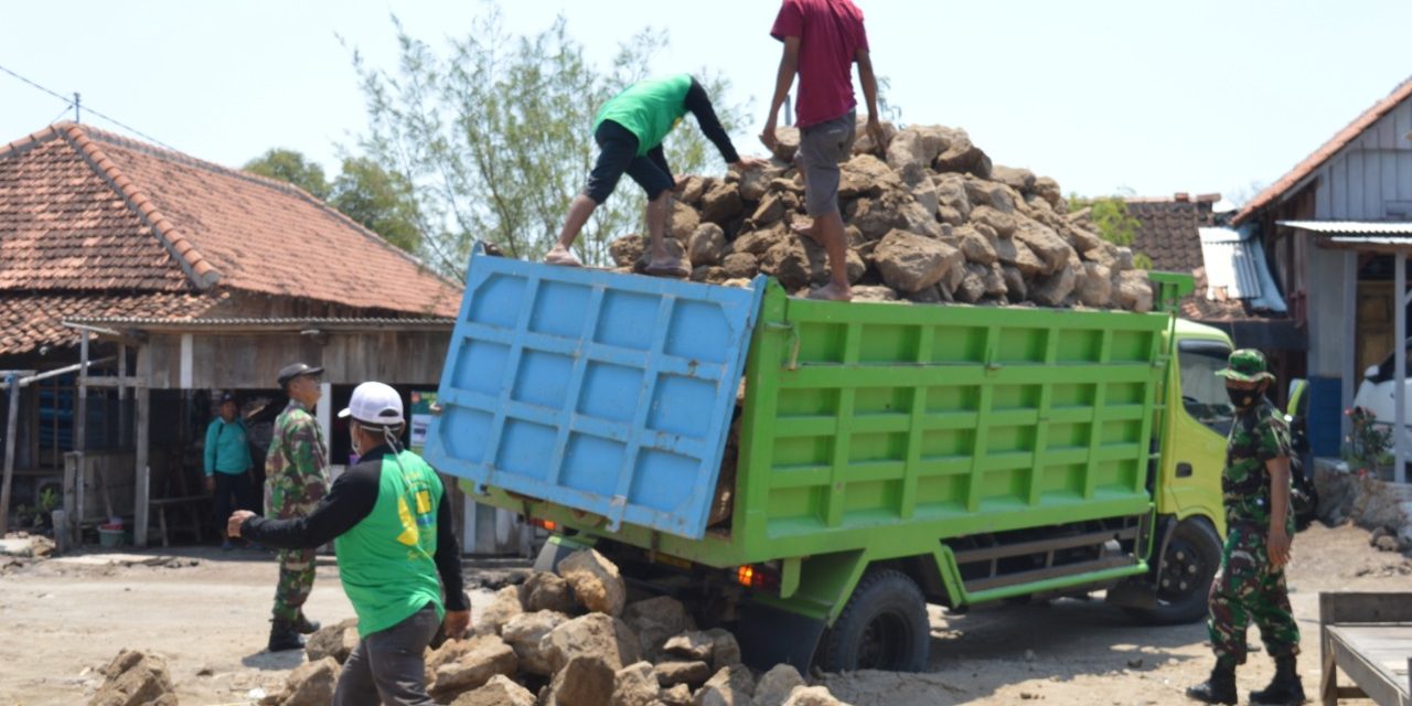
POLYGON ((69 123, 0 148, 0 289, 219 287, 419 316, 460 301, 302 189, 69 123))

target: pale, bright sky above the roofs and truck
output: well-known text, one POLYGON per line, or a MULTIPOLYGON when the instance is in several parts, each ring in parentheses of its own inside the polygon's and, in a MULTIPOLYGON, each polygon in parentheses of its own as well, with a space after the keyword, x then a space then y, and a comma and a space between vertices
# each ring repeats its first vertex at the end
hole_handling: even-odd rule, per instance
MULTIPOLYGON (((1412 76, 1409 0, 856 1, 902 123, 963 127, 995 164, 1080 195, 1221 192, 1238 202, 1412 76)), ((563 14, 604 66, 640 30, 665 32, 654 73, 727 78, 726 99, 751 109, 748 128, 733 134, 747 154, 764 152, 754 136, 779 61, 768 35, 778 7, 501 4, 520 34, 563 14)), ((7 3, 0 66, 79 92, 82 120, 102 128, 131 134, 90 110, 213 162, 239 167, 287 147, 336 174, 367 127, 353 49, 393 69, 393 14, 443 48, 483 11, 483 0, 7 3)), ((72 114, 0 72, 0 144, 72 114)))

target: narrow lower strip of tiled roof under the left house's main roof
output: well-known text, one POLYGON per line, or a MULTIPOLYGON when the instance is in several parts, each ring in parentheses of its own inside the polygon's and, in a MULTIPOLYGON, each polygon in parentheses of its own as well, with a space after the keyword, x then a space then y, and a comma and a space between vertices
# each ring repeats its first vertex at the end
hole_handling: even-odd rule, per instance
POLYGON ((184 292, 4 292, 0 295, 0 356, 41 346, 69 347, 78 332, 62 321, 79 315, 193 318, 220 295, 184 292))

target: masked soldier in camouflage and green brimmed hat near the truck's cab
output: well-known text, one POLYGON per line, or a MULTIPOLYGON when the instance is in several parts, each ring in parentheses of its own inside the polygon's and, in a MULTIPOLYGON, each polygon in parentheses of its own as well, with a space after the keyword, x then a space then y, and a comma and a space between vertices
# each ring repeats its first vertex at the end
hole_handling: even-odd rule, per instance
POLYGON ((1251 692, 1251 703, 1303 703, 1295 655, 1299 626, 1289 609, 1285 565, 1289 562, 1295 517, 1291 511, 1289 429, 1265 398, 1275 380, 1265 356, 1241 349, 1224 370, 1226 391, 1236 408, 1226 445, 1221 491, 1226 497, 1226 548, 1221 570, 1211 582, 1210 631, 1216 652, 1211 678, 1186 690, 1206 703, 1237 703, 1236 666, 1245 662, 1245 628, 1260 626, 1265 651, 1275 658, 1275 681, 1251 692))

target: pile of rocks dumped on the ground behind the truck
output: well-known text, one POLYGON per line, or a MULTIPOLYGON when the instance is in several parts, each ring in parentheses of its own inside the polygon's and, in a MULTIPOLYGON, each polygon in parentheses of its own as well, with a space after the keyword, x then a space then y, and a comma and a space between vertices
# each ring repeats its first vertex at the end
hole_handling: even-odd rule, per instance
MULTIPOLYGON (((352 621, 316 633, 309 661, 270 706, 328 703, 357 644, 352 621)), ((764 675, 740 661, 724 630, 696 630, 671 597, 628 603, 617 566, 586 549, 556 573, 500 589, 472 637, 426 654, 426 685, 453 706, 839 706, 795 668, 764 675)))

